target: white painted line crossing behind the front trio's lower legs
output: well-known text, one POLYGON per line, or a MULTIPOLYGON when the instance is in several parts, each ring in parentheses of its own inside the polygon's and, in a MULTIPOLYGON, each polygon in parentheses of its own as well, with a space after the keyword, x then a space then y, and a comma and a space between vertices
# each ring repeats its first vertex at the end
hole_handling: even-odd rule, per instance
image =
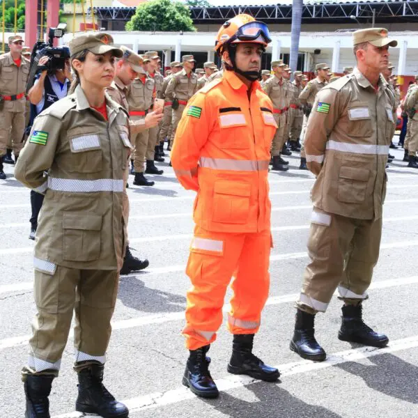
MULTIPOLYGON (((401 277, 398 279, 372 282, 371 286, 369 287, 369 290, 392 288, 396 286, 408 286, 412 284, 418 284, 418 276, 401 277)), ((266 302, 266 306, 295 302, 298 295, 299 293, 290 293, 287 295, 269 297, 266 302)), ((229 304, 224 304, 222 311, 226 313, 230 309, 231 308, 229 304)), ((169 314, 144 315, 144 316, 139 316, 137 318, 117 320, 111 323, 111 328, 114 331, 115 330, 127 330, 130 328, 144 327, 146 325, 170 323, 176 320, 184 320, 184 318, 185 318, 184 311, 170 312, 169 314)), ((72 335, 72 331, 70 332, 69 339, 72 339, 71 335, 72 335)), ((6 348, 22 346, 26 344, 30 338, 31 338, 31 335, 26 334, 22 336, 15 336, 12 338, 2 339, 0 340, 0 352, 2 350, 5 350, 6 348)))

